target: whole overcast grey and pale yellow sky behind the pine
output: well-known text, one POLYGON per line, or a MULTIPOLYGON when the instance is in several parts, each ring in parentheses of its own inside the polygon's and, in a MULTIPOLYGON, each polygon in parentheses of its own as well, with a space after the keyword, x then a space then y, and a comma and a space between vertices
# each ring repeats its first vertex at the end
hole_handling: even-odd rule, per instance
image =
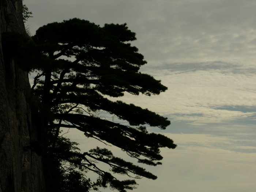
MULTIPOLYGON (((103 26, 127 23, 148 62, 140 71, 161 79, 165 93, 125 94, 127 103, 168 117, 174 150, 163 165, 144 166, 158 179, 137 192, 253 192, 256 189, 256 1, 24 0, 32 35, 50 22, 80 18, 103 26)), ((120 98, 119 98, 120 99, 120 98)), ((70 130, 80 149, 95 141, 70 130)), ((97 144, 98 145, 98 144, 97 144)), ((100 144, 98 145, 100 146, 100 144)), ((114 153, 121 154, 114 148, 114 153)), ((122 177, 122 179, 127 179, 122 177)), ((110 192, 110 189, 103 191, 110 192)))

